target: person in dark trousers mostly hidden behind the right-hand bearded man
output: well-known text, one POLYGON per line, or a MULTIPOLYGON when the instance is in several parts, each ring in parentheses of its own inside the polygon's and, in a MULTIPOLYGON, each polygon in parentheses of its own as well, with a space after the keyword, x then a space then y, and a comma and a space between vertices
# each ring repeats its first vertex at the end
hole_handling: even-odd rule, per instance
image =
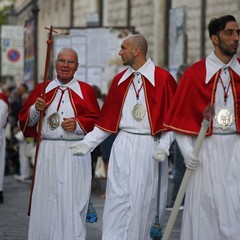
MULTIPOLYGON (((178 67, 176 77, 177 77, 177 83, 180 83, 180 80, 182 78, 182 75, 184 71, 189 67, 188 64, 182 64, 178 67)), ((170 149, 172 150, 172 156, 173 156, 173 189, 172 189, 172 195, 171 195, 171 202, 167 204, 167 209, 171 210, 173 208, 174 202, 176 200, 178 190, 181 186, 181 182, 185 173, 185 163, 182 156, 182 153, 179 149, 178 143, 176 139, 174 139, 170 149)), ((171 151, 170 151, 171 152, 171 151)), ((184 200, 181 204, 180 209, 183 209, 184 200)))

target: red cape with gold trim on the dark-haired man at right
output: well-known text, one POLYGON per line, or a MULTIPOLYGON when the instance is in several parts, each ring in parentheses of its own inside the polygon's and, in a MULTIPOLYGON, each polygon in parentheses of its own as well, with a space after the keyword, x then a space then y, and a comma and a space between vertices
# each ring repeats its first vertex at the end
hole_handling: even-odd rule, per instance
MULTIPOLYGON (((206 84, 206 59, 203 59, 189 67, 178 87, 173 102, 169 109, 164 125, 169 130, 184 134, 197 135, 203 120, 203 111, 210 104, 215 103, 216 86, 219 81, 217 72, 206 84)), ((232 69, 231 86, 235 100, 236 130, 240 131, 240 76, 232 69)), ((212 122, 207 131, 207 136, 212 134, 212 122)))

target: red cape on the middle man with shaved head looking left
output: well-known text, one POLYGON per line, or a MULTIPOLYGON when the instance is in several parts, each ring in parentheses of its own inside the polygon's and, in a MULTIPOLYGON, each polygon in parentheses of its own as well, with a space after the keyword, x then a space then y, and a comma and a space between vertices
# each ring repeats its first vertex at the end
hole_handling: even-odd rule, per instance
MULTIPOLYGON (((118 131, 122 108, 132 80, 131 75, 118 85, 125 71, 126 70, 114 77, 96 123, 97 127, 107 132, 116 133, 118 131)), ((177 83, 169 72, 155 67, 155 86, 145 77, 143 77, 143 86, 151 134, 155 135, 161 131, 167 130, 167 128, 163 126, 163 120, 169 109, 171 99, 177 89, 177 83)))

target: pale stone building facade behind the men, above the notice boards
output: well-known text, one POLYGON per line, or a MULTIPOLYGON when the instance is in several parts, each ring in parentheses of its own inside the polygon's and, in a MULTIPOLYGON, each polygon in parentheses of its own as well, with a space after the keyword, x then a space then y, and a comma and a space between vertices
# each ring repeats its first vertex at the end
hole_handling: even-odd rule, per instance
POLYGON ((240 10, 239 0, 16 0, 16 24, 23 24, 24 18, 31 17, 29 8, 24 8, 26 2, 37 2, 39 7, 38 81, 42 78, 45 64, 48 36, 45 26, 58 27, 59 32, 64 33, 64 29, 89 26, 91 18, 100 27, 132 26, 136 32, 146 36, 149 57, 168 69, 170 10, 184 8, 184 61, 190 64, 212 51, 207 31, 209 20, 225 14, 232 14, 239 20, 240 10))

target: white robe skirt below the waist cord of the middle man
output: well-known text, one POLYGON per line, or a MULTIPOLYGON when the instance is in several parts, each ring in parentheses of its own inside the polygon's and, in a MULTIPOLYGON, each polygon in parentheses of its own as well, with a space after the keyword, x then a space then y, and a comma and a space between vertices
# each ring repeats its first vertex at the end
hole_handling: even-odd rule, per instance
MULTIPOLYGON (((150 240, 157 208, 158 163, 152 159, 157 142, 151 136, 120 131, 110 155, 103 240, 150 240)), ((167 161, 161 166, 160 221, 167 200, 167 161)))

